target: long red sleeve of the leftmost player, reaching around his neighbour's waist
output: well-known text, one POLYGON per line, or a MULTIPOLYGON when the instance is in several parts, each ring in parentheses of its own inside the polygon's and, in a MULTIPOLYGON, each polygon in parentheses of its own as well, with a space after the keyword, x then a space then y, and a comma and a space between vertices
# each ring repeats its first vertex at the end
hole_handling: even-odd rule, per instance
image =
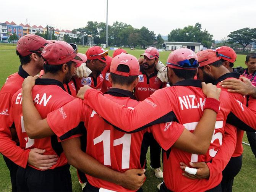
POLYGON ((12 117, 9 118, 12 116, 12 110, 10 109, 11 94, 1 94, 0 101, 0 108, 8 109, 8 111, 1 110, 5 113, 2 112, 2 115, 0 115, 0 152, 17 165, 26 168, 30 150, 23 150, 16 145, 15 141, 11 140, 11 131, 8 122, 9 119, 13 119, 12 117))

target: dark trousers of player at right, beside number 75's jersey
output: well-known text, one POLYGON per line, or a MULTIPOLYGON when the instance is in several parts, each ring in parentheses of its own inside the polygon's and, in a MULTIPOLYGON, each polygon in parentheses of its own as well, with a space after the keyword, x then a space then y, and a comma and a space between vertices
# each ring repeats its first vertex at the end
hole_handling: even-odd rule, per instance
POLYGON ((232 191, 234 177, 239 173, 242 167, 242 157, 231 157, 227 166, 222 171, 222 181, 221 187, 222 191, 230 192, 232 191))

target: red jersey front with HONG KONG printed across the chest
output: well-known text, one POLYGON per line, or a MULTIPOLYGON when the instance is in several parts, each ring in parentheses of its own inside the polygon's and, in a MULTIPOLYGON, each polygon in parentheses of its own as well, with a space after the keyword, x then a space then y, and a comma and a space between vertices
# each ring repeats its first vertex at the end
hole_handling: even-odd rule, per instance
POLYGON ((158 71, 155 69, 154 73, 147 76, 143 66, 140 66, 139 83, 134 88, 134 95, 138 101, 143 101, 156 90, 166 87, 166 83, 163 83, 157 78, 157 72, 158 71))

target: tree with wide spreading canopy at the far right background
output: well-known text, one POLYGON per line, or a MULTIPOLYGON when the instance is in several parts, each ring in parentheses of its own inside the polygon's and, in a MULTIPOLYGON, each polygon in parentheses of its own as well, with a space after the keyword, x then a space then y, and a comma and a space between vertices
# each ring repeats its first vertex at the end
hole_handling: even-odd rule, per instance
POLYGON ((245 47, 253 42, 256 42, 256 28, 243 28, 237 31, 232 31, 228 35, 230 42, 236 42, 243 47, 243 51, 245 51, 245 47))

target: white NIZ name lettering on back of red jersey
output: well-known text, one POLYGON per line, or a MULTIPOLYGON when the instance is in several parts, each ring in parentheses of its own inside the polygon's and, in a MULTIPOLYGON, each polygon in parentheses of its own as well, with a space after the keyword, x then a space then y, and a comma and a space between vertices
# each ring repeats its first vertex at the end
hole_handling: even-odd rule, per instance
POLYGON ((195 109, 201 107, 201 110, 203 111, 204 103, 206 98, 199 98, 199 102, 196 99, 195 95, 184 95, 184 96, 178 96, 180 101, 180 107, 181 110, 186 109, 195 109))

